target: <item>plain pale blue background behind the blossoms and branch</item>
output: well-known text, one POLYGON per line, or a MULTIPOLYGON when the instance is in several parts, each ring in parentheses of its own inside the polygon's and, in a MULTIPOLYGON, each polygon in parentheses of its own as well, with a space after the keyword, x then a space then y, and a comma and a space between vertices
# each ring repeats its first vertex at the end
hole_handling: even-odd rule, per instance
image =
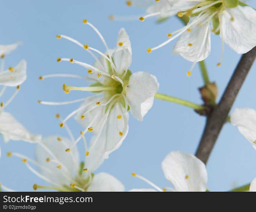
MULTIPOLYGON (((251 1, 251 6, 256 3, 251 1)), ((159 92, 201 103, 198 87, 203 85, 199 67, 196 65, 190 78, 186 72, 191 62, 180 56, 171 56, 175 41, 148 54, 146 49, 166 40, 167 33, 182 27, 176 18, 170 18, 162 24, 155 19, 141 21, 110 21, 108 16, 144 14, 143 9, 126 7, 125 1, 1 1, 0 44, 22 41, 16 51, 6 57, 6 67, 16 65, 21 59, 27 61, 27 80, 13 102, 6 107, 27 129, 43 136, 58 134, 67 136, 64 128, 58 126, 54 118, 58 112, 62 117, 76 109, 79 103, 65 106, 39 105, 37 100, 67 101, 90 95, 88 92, 74 91, 64 94, 63 83, 83 85, 79 79, 51 78, 43 81, 38 76, 49 73, 70 73, 82 75, 84 69, 68 62, 57 63, 56 58, 76 58, 93 64, 94 59, 79 46, 67 40, 56 39, 64 34, 79 40, 83 44, 105 51, 97 34, 83 24, 88 19, 102 33, 110 48, 115 46, 120 28, 127 31, 132 45, 133 62, 131 71, 147 71, 160 83, 159 92), (82 72, 83 71, 83 72, 82 72)), ((225 86, 241 55, 225 45, 225 55, 221 67, 216 67, 221 54, 221 39, 211 35, 211 54, 206 59, 211 81, 218 85, 220 99, 225 86)), ((254 95, 256 64, 253 65, 232 108, 251 107, 256 109, 254 95)), ((84 84, 86 86, 86 84, 84 84)), ((3 101, 8 99, 15 88, 8 88, 3 101)), ((1 100, 1 101, 2 101, 1 100)), ((73 119, 68 124, 75 135, 82 129, 73 119)), ((161 170, 161 161, 174 150, 194 154, 198 146, 205 117, 192 109, 154 100, 154 105, 143 122, 130 116, 129 133, 121 147, 110 155, 96 171, 107 172, 117 177, 126 190, 132 188, 150 188, 140 179, 133 178, 132 172, 143 175, 159 187, 170 186, 161 170)), ((77 136, 75 136, 77 137, 77 136)), ((0 160, 0 182, 17 191, 32 191, 34 183, 46 185, 31 173, 20 159, 6 157, 7 151, 20 152, 35 158, 34 145, 23 141, 4 143, 0 138, 2 157, 0 160)), ((84 158, 83 142, 78 144, 80 158, 84 158)), ((237 128, 225 124, 207 164, 208 189, 225 191, 234 185, 243 185, 256 177, 256 152, 250 143, 238 132, 237 128)))

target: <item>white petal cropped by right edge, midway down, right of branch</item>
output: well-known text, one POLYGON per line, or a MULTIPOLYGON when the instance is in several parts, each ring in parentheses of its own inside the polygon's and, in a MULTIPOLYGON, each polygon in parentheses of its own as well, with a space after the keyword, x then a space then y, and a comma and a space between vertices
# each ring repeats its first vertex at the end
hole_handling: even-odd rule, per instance
POLYGON ((236 108, 230 116, 230 122, 256 149, 256 111, 250 108, 236 108))

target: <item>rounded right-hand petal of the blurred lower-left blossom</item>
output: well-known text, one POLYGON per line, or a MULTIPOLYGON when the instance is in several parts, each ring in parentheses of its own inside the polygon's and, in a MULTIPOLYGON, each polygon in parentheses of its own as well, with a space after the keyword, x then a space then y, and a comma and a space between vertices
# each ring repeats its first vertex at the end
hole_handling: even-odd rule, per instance
POLYGON ((125 191, 125 187, 112 175, 102 172, 93 177, 87 191, 125 191))

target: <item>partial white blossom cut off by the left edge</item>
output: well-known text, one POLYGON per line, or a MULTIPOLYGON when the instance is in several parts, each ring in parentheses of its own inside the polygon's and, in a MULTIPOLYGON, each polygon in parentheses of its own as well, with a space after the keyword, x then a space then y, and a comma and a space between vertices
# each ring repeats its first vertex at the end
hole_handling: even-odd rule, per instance
POLYGON ((26 61, 22 60, 16 67, 9 67, 4 70, 5 55, 15 50, 18 43, 10 45, 0 45, 1 68, 0 68, 0 98, 2 98, 7 87, 16 87, 16 91, 9 100, 1 101, 0 103, 0 134, 3 135, 4 141, 23 140, 27 142, 37 142, 41 140, 40 135, 31 134, 19 123, 10 113, 4 112, 13 98, 17 95, 20 85, 26 80, 26 61))

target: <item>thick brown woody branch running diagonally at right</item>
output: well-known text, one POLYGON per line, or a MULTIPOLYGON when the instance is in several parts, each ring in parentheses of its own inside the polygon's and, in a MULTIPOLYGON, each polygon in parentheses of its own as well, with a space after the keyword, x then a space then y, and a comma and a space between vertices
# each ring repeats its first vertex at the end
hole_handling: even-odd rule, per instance
POLYGON ((230 79, 220 102, 214 107, 212 113, 207 117, 206 126, 199 143, 195 156, 205 164, 211 154, 219 133, 227 120, 230 109, 250 71, 256 57, 256 47, 244 54, 230 79))

